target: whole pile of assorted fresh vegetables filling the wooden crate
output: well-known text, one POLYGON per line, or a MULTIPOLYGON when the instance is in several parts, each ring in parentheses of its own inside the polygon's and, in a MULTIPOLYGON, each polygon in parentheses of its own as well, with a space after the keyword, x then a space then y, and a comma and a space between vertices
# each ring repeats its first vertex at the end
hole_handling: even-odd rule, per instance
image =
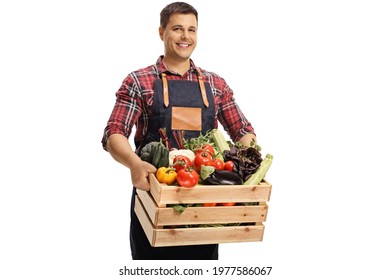
MULTIPOLYGON (((165 129, 161 129, 164 136, 165 129)), ((150 142, 141 150, 142 160, 157 168, 160 183, 193 188, 197 185, 257 185, 265 177, 273 156, 263 159, 260 146, 252 141, 249 147, 226 141, 221 131, 185 139, 175 133, 181 149, 171 148, 166 137, 150 142)), ((209 205, 211 206, 211 205, 209 205)))

